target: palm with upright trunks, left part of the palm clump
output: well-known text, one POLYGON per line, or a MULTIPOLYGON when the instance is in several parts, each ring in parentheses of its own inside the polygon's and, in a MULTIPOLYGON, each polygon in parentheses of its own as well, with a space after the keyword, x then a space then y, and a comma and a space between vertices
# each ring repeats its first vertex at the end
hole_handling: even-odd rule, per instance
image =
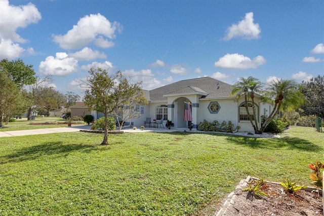
POLYGON ((256 107, 254 103, 254 97, 256 93, 260 93, 262 91, 262 83, 254 78, 240 78, 233 86, 233 90, 231 92, 231 96, 236 95, 236 99, 240 97, 240 95, 244 95, 245 100, 245 108, 249 117, 249 120, 254 128, 255 133, 259 133, 259 125, 257 121, 256 107), (249 100, 252 100, 252 115, 249 112, 249 100))

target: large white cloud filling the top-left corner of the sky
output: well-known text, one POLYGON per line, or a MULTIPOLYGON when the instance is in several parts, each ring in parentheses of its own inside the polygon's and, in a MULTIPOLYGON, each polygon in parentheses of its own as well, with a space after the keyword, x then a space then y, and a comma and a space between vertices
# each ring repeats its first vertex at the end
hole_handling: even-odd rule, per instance
POLYGON ((16 33, 18 28, 25 28, 29 24, 37 23, 42 18, 37 8, 29 3, 13 6, 8 0, 0 1, 0 58, 14 59, 19 57, 25 49, 18 43, 27 40, 16 33))

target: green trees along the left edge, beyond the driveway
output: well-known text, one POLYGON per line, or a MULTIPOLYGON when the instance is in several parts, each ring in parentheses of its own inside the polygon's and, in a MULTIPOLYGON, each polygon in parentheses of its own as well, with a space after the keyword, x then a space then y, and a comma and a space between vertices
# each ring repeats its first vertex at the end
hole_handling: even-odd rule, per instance
POLYGON ((0 127, 9 118, 27 113, 30 120, 33 110, 49 115, 51 110, 70 106, 80 99, 73 92, 62 94, 50 86, 50 77, 40 79, 35 76, 32 65, 21 59, 0 61, 0 127))

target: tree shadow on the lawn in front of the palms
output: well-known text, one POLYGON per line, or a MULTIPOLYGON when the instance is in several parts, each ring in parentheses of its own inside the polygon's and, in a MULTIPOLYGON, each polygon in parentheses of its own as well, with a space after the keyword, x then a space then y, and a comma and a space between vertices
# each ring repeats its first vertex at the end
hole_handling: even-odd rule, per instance
POLYGON ((306 139, 297 137, 281 137, 281 138, 253 138, 243 136, 229 136, 227 140, 236 144, 251 147, 253 149, 297 149, 305 152, 319 152, 323 148, 315 145, 306 139))

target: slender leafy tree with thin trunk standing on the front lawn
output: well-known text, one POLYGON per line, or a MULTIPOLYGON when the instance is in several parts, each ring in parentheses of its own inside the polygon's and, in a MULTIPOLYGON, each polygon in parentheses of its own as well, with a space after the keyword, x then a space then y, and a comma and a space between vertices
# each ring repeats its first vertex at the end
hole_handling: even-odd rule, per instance
MULTIPOLYGON (((144 97, 141 83, 130 83, 120 71, 109 75, 108 70, 92 67, 89 70, 85 92, 85 104, 104 114, 104 138, 101 145, 108 145, 108 115, 117 107, 128 104, 133 98, 144 97)), ((137 102, 137 101, 135 101, 137 102)))

